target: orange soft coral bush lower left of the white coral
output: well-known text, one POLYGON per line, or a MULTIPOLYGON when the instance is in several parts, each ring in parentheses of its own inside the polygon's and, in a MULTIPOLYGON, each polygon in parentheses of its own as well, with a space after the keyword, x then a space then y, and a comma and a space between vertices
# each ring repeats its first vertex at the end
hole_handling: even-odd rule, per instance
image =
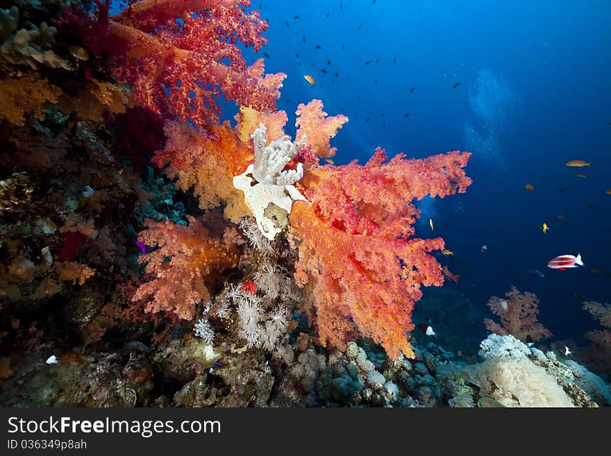
POLYGON ((210 299, 210 282, 226 269, 235 267, 238 252, 233 242, 235 228, 226 228, 224 237, 215 237, 195 217, 189 226, 148 220, 140 242, 158 248, 141 255, 151 276, 135 292, 132 301, 152 296, 147 312, 174 312, 181 319, 193 319, 196 304, 210 299))

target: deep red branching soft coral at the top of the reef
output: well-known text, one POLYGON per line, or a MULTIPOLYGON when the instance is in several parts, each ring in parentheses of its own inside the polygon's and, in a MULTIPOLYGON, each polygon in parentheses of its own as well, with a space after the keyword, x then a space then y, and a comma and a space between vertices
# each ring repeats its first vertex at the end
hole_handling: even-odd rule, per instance
POLYGON ((113 76, 133 87, 138 105, 211 126, 221 94, 260 111, 274 109, 280 96, 286 75, 263 76, 262 59, 247 67, 242 58, 238 42, 255 51, 266 42, 267 22, 248 6, 250 0, 142 0, 112 18, 101 6, 99 23, 81 19, 79 33, 94 53, 117 58, 113 76))

